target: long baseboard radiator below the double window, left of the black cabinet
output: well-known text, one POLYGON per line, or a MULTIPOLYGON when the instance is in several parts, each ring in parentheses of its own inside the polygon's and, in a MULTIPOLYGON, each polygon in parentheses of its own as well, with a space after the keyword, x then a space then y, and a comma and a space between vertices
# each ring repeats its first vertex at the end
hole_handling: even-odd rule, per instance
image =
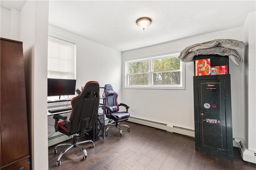
POLYGON ((166 130, 168 132, 174 132, 174 133, 179 133, 181 135, 186 135, 189 137, 195 137, 195 131, 192 129, 187 129, 184 127, 179 127, 179 126, 175 126, 175 125, 168 125, 168 124, 164 124, 164 123, 159 123, 159 122, 155 122, 155 121, 150 121, 150 120, 146 120, 146 119, 140 119, 137 117, 129 117, 128 121, 133 122, 133 123, 138 123, 141 125, 146 125, 146 126, 150 126, 150 127, 155 127, 158 129, 162 129, 162 130, 166 130))

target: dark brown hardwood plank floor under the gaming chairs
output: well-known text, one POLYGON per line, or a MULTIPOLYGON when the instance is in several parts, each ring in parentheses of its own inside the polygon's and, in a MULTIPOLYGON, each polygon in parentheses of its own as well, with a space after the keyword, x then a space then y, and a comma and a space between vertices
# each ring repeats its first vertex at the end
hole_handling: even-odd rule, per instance
POLYGON ((90 143, 81 144, 88 153, 86 160, 82 150, 72 148, 56 166, 67 146, 58 147, 57 154, 53 154, 54 146, 49 147, 49 170, 256 170, 256 164, 242 160, 237 148, 234 161, 227 160, 195 151, 194 138, 131 122, 122 124, 130 126, 130 131, 122 127, 122 137, 113 127, 95 141, 94 148, 90 143))

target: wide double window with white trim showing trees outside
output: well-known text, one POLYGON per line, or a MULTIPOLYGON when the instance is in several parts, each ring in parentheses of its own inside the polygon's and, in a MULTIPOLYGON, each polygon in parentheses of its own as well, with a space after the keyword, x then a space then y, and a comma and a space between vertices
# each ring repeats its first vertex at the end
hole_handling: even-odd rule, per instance
POLYGON ((185 66, 178 55, 126 61, 125 88, 185 89, 185 66))

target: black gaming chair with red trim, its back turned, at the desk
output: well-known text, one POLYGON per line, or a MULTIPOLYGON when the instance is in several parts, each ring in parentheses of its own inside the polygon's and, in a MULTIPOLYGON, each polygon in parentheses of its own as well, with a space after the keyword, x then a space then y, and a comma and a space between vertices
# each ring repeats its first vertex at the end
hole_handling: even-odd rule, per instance
POLYGON ((59 131, 68 136, 74 135, 73 143, 59 144, 55 147, 53 151, 54 154, 57 153, 58 146, 70 145, 70 147, 63 150, 58 156, 57 166, 61 164, 61 156, 72 147, 78 147, 84 152, 83 159, 87 158, 87 152, 79 144, 91 142, 92 148, 94 147, 94 142, 91 140, 78 142, 76 134, 79 134, 79 137, 83 137, 86 133, 86 129, 91 129, 96 124, 100 101, 99 92, 100 85, 98 82, 87 82, 82 92, 71 100, 72 111, 70 118, 67 119, 67 115, 64 114, 58 114, 53 116, 53 118, 55 119, 55 131, 59 131), (58 122, 59 119, 62 119, 63 121, 58 122))

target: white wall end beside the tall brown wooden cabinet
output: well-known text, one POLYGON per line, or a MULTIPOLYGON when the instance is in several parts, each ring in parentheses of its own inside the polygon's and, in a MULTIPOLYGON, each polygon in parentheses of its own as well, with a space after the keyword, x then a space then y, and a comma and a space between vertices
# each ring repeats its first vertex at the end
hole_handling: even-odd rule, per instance
POLYGON ((30 163, 32 169, 48 169, 47 51, 48 1, 26 1, 20 12, 23 41, 30 163))

